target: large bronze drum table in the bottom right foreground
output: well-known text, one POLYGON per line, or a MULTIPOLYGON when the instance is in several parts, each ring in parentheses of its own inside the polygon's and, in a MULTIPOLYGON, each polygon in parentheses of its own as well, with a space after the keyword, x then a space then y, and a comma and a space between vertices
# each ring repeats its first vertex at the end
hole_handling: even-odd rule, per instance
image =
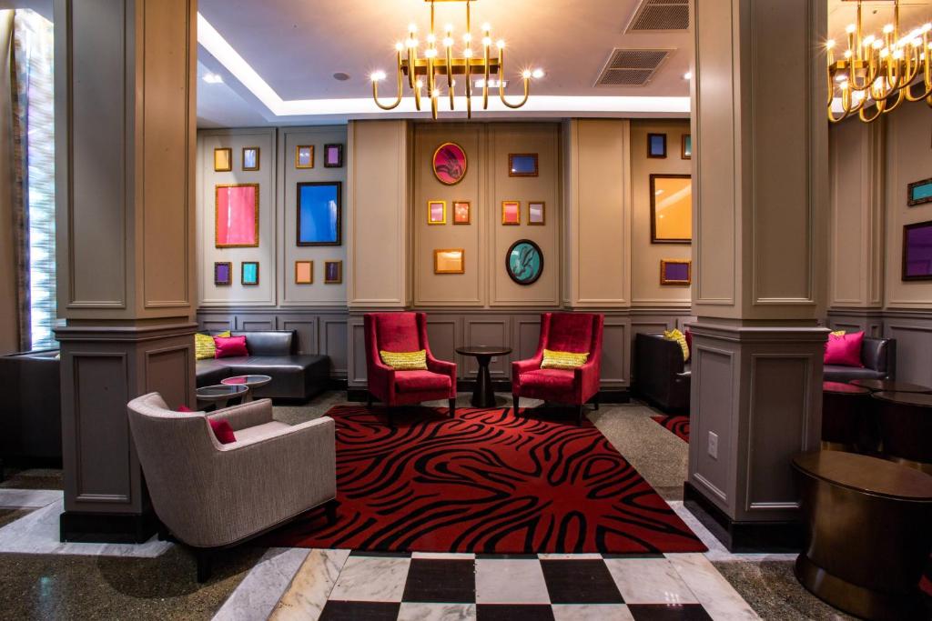
POLYGON ((806 546, 803 587, 866 619, 925 619, 919 580, 932 550, 932 477, 852 452, 793 457, 806 546))

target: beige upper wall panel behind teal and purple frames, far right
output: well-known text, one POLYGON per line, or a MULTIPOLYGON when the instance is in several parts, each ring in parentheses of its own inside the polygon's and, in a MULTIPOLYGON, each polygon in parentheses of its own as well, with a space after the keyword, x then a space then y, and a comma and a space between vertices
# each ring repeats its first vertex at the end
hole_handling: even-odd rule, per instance
POLYGON ((886 298, 888 308, 929 308, 932 280, 902 280, 903 225, 932 220, 932 203, 908 207, 906 186, 932 176, 932 115, 905 103, 886 118, 886 298))

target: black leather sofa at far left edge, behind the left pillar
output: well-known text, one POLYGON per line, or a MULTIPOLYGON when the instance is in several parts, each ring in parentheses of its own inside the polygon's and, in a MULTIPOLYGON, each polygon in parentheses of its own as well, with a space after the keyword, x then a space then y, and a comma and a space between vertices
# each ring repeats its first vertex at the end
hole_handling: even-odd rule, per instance
POLYGON ((0 459, 7 466, 62 466, 58 350, 0 356, 0 459))

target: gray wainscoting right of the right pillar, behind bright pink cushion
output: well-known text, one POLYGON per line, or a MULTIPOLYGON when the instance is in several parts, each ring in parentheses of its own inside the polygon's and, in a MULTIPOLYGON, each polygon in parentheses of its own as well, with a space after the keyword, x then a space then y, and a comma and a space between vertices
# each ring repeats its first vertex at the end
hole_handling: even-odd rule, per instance
POLYGON ((932 309, 836 308, 828 323, 832 330, 897 339, 897 379, 932 386, 932 309))

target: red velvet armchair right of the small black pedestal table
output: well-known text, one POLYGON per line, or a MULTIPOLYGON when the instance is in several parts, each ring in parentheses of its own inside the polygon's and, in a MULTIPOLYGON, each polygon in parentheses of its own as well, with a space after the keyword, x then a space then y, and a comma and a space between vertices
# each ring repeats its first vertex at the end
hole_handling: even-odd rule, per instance
MULTIPOLYGON (((541 342, 534 358, 512 363, 512 396, 517 414, 521 397, 575 405, 577 424, 583 423, 583 404, 598 393, 602 366, 602 324, 605 317, 589 313, 544 313, 541 342), (543 350, 588 352, 578 369, 541 369, 543 350)), ((596 403, 596 410, 598 403, 596 403)))

